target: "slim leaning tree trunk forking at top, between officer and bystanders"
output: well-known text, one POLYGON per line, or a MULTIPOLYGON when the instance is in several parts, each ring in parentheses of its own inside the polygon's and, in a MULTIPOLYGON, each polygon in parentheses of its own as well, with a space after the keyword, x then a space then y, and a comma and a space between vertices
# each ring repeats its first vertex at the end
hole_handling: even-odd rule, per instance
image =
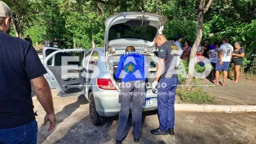
POLYGON ((202 40, 203 37, 203 16, 206 11, 208 11, 209 7, 212 5, 213 0, 209 0, 208 4, 205 6, 205 0, 200 1, 200 5, 198 7, 198 18, 197 18, 197 37, 195 39, 195 42, 192 47, 192 51, 190 53, 190 61, 188 65, 188 74, 187 74, 187 80, 186 80, 186 85, 191 85, 192 79, 193 79, 193 73, 194 73, 194 68, 196 64, 196 53, 197 53, 197 48, 202 40))

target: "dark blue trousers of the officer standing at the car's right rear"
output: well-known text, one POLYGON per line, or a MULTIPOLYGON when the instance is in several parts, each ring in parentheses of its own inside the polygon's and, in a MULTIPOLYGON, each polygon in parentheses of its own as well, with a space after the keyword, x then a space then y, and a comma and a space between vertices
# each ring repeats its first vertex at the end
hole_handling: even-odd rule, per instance
POLYGON ((174 127, 174 102, 178 83, 179 80, 177 78, 160 80, 157 90, 157 108, 161 131, 174 127))

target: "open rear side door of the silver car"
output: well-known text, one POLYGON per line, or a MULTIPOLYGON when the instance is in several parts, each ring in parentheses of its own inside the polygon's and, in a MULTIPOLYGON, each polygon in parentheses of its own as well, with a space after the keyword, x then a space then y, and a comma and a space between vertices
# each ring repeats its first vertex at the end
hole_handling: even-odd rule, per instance
POLYGON ((59 91, 59 96, 74 96, 84 93, 85 50, 63 49, 48 55, 43 65, 48 75, 52 77, 51 82, 59 91))

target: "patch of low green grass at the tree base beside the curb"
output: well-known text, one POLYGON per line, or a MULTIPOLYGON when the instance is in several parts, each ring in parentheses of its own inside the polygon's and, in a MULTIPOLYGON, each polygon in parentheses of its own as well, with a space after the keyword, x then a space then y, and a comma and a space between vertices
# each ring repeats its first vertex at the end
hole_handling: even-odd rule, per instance
POLYGON ((213 104, 215 103, 214 97, 208 95, 203 91, 202 87, 192 87, 191 90, 184 88, 178 88, 177 94, 181 96, 181 100, 188 103, 197 103, 197 104, 213 104))

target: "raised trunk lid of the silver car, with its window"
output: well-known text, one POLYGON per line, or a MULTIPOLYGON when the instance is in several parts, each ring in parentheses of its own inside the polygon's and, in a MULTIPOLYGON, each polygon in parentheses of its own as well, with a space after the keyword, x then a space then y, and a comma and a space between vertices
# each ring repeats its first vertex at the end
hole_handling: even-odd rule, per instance
POLYGON ((155 36, 161 34, 165 17, 145 12, 122 12, 108 17, 105 22, 105 52, 109 48, 123 49, 128 45, 153 52, 155 36))

